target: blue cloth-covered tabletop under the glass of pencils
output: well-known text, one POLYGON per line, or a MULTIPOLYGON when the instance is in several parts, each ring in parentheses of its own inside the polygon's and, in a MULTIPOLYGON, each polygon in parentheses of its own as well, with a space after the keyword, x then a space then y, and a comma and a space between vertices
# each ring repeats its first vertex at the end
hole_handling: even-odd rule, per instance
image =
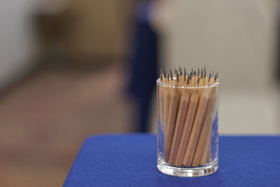
POLYGON ((155 135, 97 135, 64 186, 280 186, 280 137, 220 137, 218 172, 183 178, 158 172, 155 135))

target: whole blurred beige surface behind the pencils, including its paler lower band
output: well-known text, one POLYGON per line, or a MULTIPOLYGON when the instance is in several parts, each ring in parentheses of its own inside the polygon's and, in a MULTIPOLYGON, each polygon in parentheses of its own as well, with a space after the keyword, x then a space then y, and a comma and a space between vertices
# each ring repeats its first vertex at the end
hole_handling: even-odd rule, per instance
POLYGON ((162 66, 219 71, 221 133, 280 134, 273 71, 278 1, 159 2, 164 8, 154 26, 162 34, 162 66))

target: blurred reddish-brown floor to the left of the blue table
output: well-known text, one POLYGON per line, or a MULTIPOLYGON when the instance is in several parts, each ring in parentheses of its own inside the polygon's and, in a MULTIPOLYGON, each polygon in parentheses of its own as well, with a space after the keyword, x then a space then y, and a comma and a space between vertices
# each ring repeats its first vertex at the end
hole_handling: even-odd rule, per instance
POLYGON ((118 67, 45 71, 0 100, 0 186, 62 186, 85 137, 130 132, 118 67))

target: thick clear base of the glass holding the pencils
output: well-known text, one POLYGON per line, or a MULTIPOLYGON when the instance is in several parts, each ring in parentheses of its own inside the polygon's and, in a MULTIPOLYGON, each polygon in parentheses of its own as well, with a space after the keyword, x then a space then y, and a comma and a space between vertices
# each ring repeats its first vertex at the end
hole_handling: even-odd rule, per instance
POLYGON ((207 176, 218 170, 218 161, 201 167, 174 167, 158 159, 158 170, 171 176, 207 176))

